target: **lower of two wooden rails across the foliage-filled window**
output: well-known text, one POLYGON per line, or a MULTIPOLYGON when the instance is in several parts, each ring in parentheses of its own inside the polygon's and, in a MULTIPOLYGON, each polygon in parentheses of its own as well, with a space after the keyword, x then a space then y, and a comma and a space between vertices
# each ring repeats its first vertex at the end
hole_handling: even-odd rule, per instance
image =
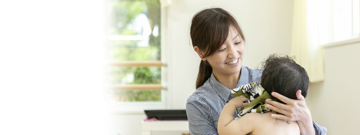
POLYGON ((167 87, 161 84, 134 84, 134 85, 111 85, 112 90, 163 90, 167 87))

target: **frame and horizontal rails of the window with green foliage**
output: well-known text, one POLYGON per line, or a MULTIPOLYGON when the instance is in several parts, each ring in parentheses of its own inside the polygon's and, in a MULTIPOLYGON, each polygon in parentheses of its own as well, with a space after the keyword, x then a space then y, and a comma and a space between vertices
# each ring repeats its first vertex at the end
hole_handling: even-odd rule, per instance
MULTIPOLYGON (((167 28, 167 15, 166 15, 167 8, 160 6, 160 21, 161 21, 161 60, 156 61, 127 61, 127 62, 110 62, 109 66, 116 66, 116 67, 160 67, 161 68, 161 84, 139 84, 139 85, 110 85, 108 90, 118 88, 127 87, 142 87, 152 85, 152 87, 161 87, 162 89, 158 89, 161 91, 161 101, 159 102, 109 102, 109 109, 112 113, 120 113, 120 114, 143 114, 144 110, 146 109, 166 109, 168 106, 167 97, 169 95, 167 89, 167 82, 168 82, 168 66, 167 66, 167 46, 166 46, 166 28, 167 28)), ((126 36, 126 40, 128 36, 126 36)), ((118 35, 111 35, 108 37, 108 41, 114 40, 125 40, 125 36, 118 36, 118 35)), ((140 36, 133 36, 132 39, 143 39, 144 37, 140 36)))

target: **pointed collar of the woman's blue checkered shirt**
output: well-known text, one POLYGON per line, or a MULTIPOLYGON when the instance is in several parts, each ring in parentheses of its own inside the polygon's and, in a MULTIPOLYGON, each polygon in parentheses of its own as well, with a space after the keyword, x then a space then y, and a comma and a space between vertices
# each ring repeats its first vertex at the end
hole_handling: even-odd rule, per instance
MULTIPOLYGON (((242 85, 245 85, 247 81, 247 78, 249 78, 249 72, 246 70, 246 68, 244 66, 241 66, 241 75, 238 81, 238 84, 236 85, 236 87, 240 87, 242 85)), ((224 101, 228 101, 229 100, 229 96, 231 95, 230 93, 230 89, 228 89, 227 87, 225 87, 224 85, 222 85, 219 81, 216 80, 215 76, 213 73, 211 73, 210 76, 210 83, 211 85, 213 85, 215 87, 215 92, 217 94, 220 95, 220 97, 224 100, 224 101)), ((232 96, 231 96, 232 98, 232 96)))

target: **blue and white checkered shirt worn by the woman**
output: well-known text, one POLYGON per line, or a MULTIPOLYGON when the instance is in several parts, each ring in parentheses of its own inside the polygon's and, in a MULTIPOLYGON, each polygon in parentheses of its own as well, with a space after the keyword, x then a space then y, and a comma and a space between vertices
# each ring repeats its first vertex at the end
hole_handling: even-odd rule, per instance
MULTIPOLYGON (((259 82, 261 69, 241 67, 241 76, 236 87, 259 82)), ((232 99, 230 89, 216 80, 213 74, 186 102, 189 130, 192 135, 217 135, 217 123, 222 107, 232 99)), ((234 118, 238 112, 234 113, 234 118)), ((312 122, 316 135, 326 135, 327 129, 312 122)))

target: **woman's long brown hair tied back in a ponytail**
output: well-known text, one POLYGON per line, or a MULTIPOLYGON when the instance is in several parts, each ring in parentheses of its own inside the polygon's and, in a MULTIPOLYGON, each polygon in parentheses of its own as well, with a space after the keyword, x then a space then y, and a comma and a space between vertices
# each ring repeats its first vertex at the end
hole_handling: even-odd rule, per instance
MULTIPOLYGON (((209 8, 199 11, 192 18, 190 26, 193 47, 198 46, 199 50, 204 53, 203 58, 209 57, 224 44, 231 26, 236 28, 243 41, 245 41, 238 22, 226 10, 209 8)), ((211 73, 212 67, 210 64, 207 61, 201 61, 196 88, 202 86, 211 76, 211 73)))

